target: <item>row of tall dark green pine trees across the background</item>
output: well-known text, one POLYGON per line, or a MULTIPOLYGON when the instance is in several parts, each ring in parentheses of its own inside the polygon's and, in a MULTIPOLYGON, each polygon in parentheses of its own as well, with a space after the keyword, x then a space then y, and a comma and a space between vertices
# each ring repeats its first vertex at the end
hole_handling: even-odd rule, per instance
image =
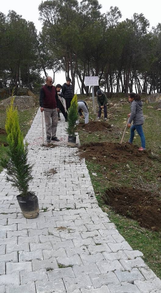
POLYGON ((42 72, 55 81, 64 71, 82 94, 90 90, 85 76, 98 76, 108 94, 161 93, 161 24, 149 30, 143 13, 120 21, 117 6, 101 8, 97 0, 41 2, 39 33, 15 11, 0 13, 0 87, 38 92, 42 72))

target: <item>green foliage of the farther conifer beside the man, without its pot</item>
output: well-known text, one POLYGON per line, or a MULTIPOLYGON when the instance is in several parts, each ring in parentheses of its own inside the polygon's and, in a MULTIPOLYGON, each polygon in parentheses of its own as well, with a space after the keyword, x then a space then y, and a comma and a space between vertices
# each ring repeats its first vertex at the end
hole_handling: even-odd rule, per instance
POLYGON ((75 131, 77 128, 76 121, 78 120, 78 104, 77 104, 77 95, 73 96, 73 99, 68 110, 68 127, 66 131, 71 136, 76 136, 75 131))

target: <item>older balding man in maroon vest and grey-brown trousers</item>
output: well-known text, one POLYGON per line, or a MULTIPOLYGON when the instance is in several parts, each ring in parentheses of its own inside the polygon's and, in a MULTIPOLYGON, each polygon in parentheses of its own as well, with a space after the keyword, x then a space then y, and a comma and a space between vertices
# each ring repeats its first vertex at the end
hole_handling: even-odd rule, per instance
POLYGON ((52 78, 46 77, 46 85, 40 90, 40 110, 44 111, 45 126, 46 126, 46 141, 60 141, 56 137, 56 128, 58 125, 59 99, 55 86, 52 85, 52 78), (52 121, 52 123, 51 123, 52 121))

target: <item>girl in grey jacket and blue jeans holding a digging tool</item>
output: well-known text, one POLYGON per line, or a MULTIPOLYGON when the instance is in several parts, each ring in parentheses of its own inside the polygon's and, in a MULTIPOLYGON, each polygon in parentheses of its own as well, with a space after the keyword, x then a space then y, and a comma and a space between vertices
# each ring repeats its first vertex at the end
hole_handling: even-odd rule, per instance
POLYGON ((130 139, 129 143, 133 142, 134 139, 134 131, 138 132, 138 135, 141 139, 141 147, 139 147, 140 151, 145 150, 145 136, 142 129, 142 125, 144 123, 144 115, 142 111, 142 101, 141 96, 139 94, 135 94, 134 92, 131 92, 129 94, 129 102, 131 103, 131 113, 128 114, 129 117, 129 123, 128 127, 130 127, 130 139), (131 125, 131 122, 133 121, 133 125, 131 125))

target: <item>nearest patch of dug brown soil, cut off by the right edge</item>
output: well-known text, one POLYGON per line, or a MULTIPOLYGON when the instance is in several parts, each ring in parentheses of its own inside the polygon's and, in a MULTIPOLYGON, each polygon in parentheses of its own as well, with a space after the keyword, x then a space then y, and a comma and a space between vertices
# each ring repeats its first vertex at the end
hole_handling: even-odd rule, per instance
POLYGON ((117 213, 137 220, 140 226, 161 230, 161 201, 146 190, 117 188, 106 190, 103 200, 117 213))

